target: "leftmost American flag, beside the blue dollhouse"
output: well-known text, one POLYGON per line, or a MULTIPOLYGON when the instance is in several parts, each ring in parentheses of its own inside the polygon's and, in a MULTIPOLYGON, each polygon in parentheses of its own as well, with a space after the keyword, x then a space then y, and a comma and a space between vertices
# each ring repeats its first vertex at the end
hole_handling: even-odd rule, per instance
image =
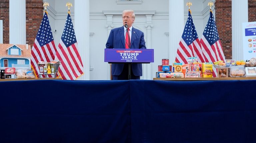
MULTIPOLYGON (((37 78, 39 77, 39 67, 37 63, 39 61, 53 61, 53 59, 55 58, 56 50, 57 49, 53 41, 52 30, 50 27, 47 12, 45 12, 33 47, 31 49, 31 66, 37 78)), ((51 77, 51 75, 48 76, 51 77)))

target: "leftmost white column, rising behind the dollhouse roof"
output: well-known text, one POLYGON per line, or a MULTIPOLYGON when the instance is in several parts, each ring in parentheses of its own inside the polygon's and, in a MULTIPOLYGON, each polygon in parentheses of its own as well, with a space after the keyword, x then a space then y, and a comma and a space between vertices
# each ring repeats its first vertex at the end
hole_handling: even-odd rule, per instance
POLYGON ((26 0, 9 1, 9 43, 26 44, 26 0))

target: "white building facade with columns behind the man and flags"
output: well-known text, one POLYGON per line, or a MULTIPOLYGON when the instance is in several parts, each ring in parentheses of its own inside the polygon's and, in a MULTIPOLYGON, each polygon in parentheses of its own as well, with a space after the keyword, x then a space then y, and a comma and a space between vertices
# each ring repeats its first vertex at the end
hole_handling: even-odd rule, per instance
MULTIPOLYGON (((10 0, 12 1, 12 0, 10 0)), ((235 0, 232 0, 232 2, 235 0)), ((134 27, 144 32, 147 48, 154 49, 154 63, 143 64, 141 79, 153 79, 162 59, 174 62, 177 45, 188 15, 183 0, 48 0, 48 17, 56 46, 64 29, 71 2, 78 49, 85 74, 79 80, 110 80, 110 65, 104 62, 104 49, 113 28, 122 26, 122 11, 135 11, 134 27)), ((201 38, 209 18, 210 0, 191 0, 192 18, 201 38)), ((215 2, 215 1, 213 1, 215 2)), ((214 6, 212 7, 215 14, 214 6)), ((10 27, 11 29, 11 27, 10 27)), ((11 37, 11 35, 10 35, 11 37)))

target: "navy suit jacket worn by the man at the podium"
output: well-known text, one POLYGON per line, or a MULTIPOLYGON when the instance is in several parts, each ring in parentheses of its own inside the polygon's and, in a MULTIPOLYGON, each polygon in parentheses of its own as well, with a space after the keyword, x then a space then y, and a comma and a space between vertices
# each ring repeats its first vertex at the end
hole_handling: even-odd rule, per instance
MULTIPOLYGON (((106 48, 124 48, 124 27, 112 29, 110 31, 106 48)), ((131 49, 146 49, 144 33, 132 27, 131 49)), ((118 76, 123 71, 124 64, 112 64, 112 75, 118 76)), ((132 72, 135 76, 142 76, 142 64, 131 64, 132 72)))

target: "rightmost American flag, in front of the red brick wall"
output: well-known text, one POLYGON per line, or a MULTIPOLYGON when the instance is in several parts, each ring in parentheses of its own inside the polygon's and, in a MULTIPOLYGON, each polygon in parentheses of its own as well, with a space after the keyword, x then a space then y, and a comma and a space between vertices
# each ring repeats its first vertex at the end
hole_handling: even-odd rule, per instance
MULTIPOLYGON (((205 62, 226 61, 212 11, 200 42, 205 62)), ((216 75, 217 71, 213 68, 213 77, 216 75)))

